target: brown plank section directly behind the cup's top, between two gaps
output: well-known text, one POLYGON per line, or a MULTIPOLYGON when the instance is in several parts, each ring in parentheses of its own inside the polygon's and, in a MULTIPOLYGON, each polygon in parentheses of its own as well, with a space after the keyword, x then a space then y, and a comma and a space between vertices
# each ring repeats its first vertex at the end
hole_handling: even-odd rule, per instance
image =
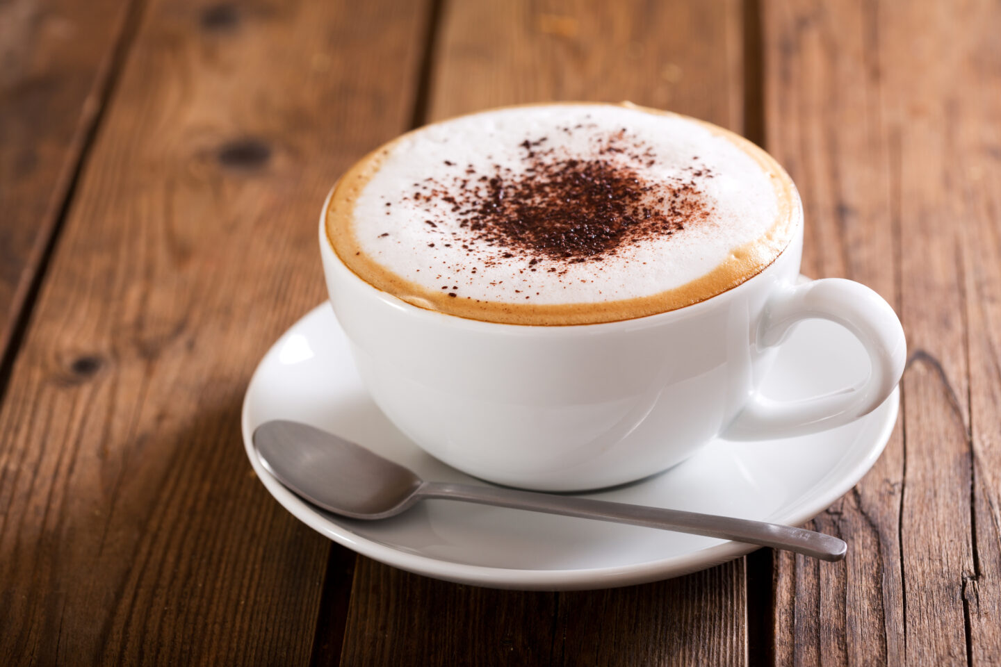
POLYGON ((441 21, 431 119, 629 100, 744 129, 740 0, 450 0, 441 21))

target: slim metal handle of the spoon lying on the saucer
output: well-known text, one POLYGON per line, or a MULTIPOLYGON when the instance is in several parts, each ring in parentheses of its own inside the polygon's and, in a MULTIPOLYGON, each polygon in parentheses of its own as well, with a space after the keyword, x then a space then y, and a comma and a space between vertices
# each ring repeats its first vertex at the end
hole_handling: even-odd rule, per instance
POLYGON ((843 559, 848 550, 848 545, 833 535, 825 535, 803 528, 593 498, 441 482, 424 482, 417 490, 416 495, 421 498, 461 500, 530 512, 562 514, 585 519, 598 519, 599 521, 628 523, 648 528, 663 528, 679 533, 719 537, 746 544, 759 544, 773 549, 786 549, 805 556, 830 561, 843 559))

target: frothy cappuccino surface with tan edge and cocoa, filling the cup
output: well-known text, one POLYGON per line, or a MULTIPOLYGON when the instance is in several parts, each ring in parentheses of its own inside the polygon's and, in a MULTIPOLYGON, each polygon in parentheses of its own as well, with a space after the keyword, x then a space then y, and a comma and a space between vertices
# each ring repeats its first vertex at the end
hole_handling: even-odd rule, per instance
POLYGON ((366 156, 325 213, 373 287, 487 322, 612 322, 760 273, 802 224, 789 177, 722 128, 632 105, 511 107, 366 156))

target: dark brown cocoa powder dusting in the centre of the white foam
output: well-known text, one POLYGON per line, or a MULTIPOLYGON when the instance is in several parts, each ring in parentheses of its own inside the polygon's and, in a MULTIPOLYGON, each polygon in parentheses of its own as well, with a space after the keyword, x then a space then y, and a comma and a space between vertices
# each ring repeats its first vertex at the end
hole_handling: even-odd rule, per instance
MULTIPOLYGON (((457 170, 452 182, 429 183, 411 198, 428 212, 445 206, 449 217, 457 217, 458 229, 454 218, 449 227, 463 248, 477 242, 495 251, 479 257, 484 264, 513 257, 531 258, 530 265, 540 259, 601 261, 643 240, 672 236, 712 214, 700 183, 713 173, 697 158, 676 176, 653 182, 641 172, 656 164, 657 156, 625 128, 596 136, 588 156, 558 153, 546 147, 547 141, 520 144, 522 169, 517 172, 493 165, 479 173, 469 166, 457 170)), ((430 220, 426 224, 436 227, 430 220)))

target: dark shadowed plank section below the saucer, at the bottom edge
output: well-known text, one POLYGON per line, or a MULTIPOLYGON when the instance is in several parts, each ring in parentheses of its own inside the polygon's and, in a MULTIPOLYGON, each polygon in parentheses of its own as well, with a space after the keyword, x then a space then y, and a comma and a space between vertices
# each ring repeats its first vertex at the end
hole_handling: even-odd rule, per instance
POLYGON ((734 594, 743 577, 737 560, 645 586, 540 593, 445 584, 359 558, 341 664, 743 665, 733 645, 744 634, 734 594))

